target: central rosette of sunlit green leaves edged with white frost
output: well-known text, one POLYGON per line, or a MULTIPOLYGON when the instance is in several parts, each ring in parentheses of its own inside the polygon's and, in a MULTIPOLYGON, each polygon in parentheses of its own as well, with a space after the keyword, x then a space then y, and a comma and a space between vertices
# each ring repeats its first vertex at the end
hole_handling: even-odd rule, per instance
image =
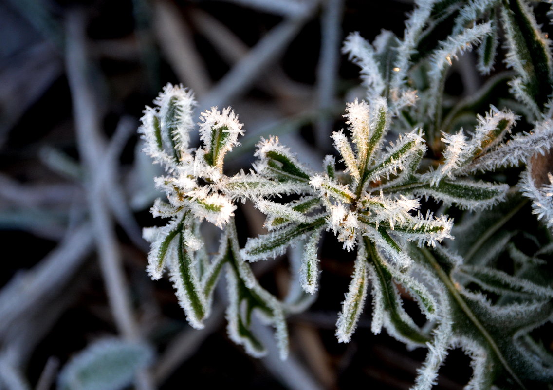
POLYGON ((267 214, 265 227, 270 232, 250 238, 242 256, 248 261, 278 256, 289 245, 306 238, 301 284, 306 292, 314 293, 319 275, 317 243, 322 231, 332 231, 344 249, 358 250, 352 282, 337 323, 338 340, 349 341, 372 279, 373 316, 380 318, 380 325, 377 321, 373 331, 379 332, 385 326, 390 334, 409 345, 424 345, 431 336, 424 334, 401 308, 394 283, 401 284, 419 301, 429 320, 436 320, 435 298, 410 275, 419 272, 420 267, 413 263, 406 243, 434 247, 444 238, 452 238, 452 221, 443 215, 434 217, 430 212, 422 215, 420 199, 412 196, 431 196, 444 204, 471 210, 489 209, 503 200, 508 185, 471 180, 467 172, 478 159, 506 147, 501 141, 516 116, 492 107, 486 116, 479 117, 472 137, 444 134, 447 144, 444 162, 423 172, 419 165, 426 145, 419 129, 382 147, 392 122, 383 98, 370 104, 364 101, 348 104, 346 117, 353 146, 342 131, 332 135, 345 171, 336 171, 334 158, 327 156, 324 172, 312 173, 278 139, 258 144, 255 173, 242 175, 243 186, 236 196, 248 197, 267 214), (256 178, 275 183, 273 196, 286 183, 290 184, 288 193, 299 192, 300 196, 288 204, 267 197, 256 198, 254 186, 248 193, 246 185, 256 178))

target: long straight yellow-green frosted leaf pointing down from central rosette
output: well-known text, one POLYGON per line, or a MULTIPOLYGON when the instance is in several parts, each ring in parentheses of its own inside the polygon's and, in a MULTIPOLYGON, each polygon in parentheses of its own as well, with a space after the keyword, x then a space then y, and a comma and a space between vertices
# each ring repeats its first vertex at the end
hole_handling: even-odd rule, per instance
POLYGON ((357 321, 363 311, 367 297, 367 252, 364 245, 358 245, 357 259, 353 277, 349 283, 346 299, 342 302, 342 311, 338 314, 336 337, 338 342, 349 342, 357 327, 357 321))

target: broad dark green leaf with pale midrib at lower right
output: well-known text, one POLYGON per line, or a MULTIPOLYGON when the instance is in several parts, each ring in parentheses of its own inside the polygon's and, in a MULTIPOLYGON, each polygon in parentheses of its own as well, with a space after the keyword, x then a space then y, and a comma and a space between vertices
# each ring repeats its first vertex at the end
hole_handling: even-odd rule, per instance
MULTIPOLYGON (((482 293, 467 290, 450 275, 459 262, 444 248, 422 249, 436 276, 444 283, 451 306, 451 347, 461 347, 472 357, 473 376, 468 386, 489 388, 505 380, 525 388, 526 379, 550 381, 553 365, 538 363, 531 349, 517 340, 526 340, 535 327, 553 318, 550 299, 531 303, 492 304, 482 293), (518 344, 518 345, 517 345, 518 344), (513 345, 517 347, 513 348, 513 345), (486 366, 481 366, 486 363, 486 366)), ((509 280, 513 283, 513 280, 509 280)), ((510 284, 509 283, 509 284, 510 284)), ((515 289, 520 289, 520 284, 515 289)), ((526 285, 528 287, 528 285, 526 285)), ((552 360, 553 361, 553 360, 552 360)))

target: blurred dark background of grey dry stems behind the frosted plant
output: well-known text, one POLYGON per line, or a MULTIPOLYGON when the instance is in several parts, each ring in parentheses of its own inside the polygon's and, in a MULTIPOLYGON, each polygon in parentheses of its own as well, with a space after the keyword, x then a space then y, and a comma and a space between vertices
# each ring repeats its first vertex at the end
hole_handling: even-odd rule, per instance
MULTIPOLYGON (((335 240, 321 249, 319 296, 289 318, 288 361, 252 358, 229 341, 224 294, 204 330, 187 325, 169 281, 145 273, 142 227, 164 221, 149 213, 160 171, 140 153, 136 129, 161 88, 182 83, 195 91, 199 112, 232 105, 244 123, 228 174, 251 167, 255 143, 269 134, 320 170, 333 153, 328 136, 345 127, 345 102, 364 96, 342 40, 359 31, 372 41, 381 29, 401 37, 412 7, 409 0, 0 1, 0 389, 55 388, 66 362, 107 336, 153 347, 133 385, 143 390, 409 388, 425 351, 374 336, 369 304, 352 342, 337 343, 353 254, 335 240)), ((475 88, 463 69, 452 71, 451 95, 475 88)), ((249 205, 237 222, 242 245, 263 231, 249 205)), ((254 271, 270 292, 286 295, 286 258, 254 271)), ((455 350, 451 361, 437 388, 459 389, 469 378, 468 357, 455 350)))

